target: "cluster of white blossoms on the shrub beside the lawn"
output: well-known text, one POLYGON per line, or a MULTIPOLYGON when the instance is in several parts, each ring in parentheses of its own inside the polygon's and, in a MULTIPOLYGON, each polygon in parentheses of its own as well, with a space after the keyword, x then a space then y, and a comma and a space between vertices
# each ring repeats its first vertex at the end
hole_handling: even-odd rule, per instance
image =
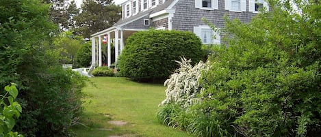
POLYGON ((175 103, 182 108, 188 108, 198 102, 196 95, 201 92, 198 79, 201 72, 205 70, 206 64, 200 61, 194 67, 190 64, 191 60, 182 58, 177 61, 180 67, 165 81, 166 99, 160 105, 175 103))

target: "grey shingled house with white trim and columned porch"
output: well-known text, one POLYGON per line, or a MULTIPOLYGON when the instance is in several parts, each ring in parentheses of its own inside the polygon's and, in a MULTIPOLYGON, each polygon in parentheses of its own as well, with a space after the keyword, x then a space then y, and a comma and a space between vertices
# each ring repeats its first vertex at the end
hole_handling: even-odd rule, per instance
MULTIPOLYGON (((216 27, 224 27, 224 14, 249 22, 261 7, 268 8, 264 0, 128 0, 121 4, 122 18, 113 27, 92 34, 92 64, 112 63, 125 47, 125 40, 137 31, 155 29, 192 31, 203 44, 220 44, 220 35, 207 26, 207 18, 216 27), (212 35, 216 35, 213 40, 212 35), (102 40, 105 44, 102 46, 102 40), (107 41, 107 42, 106 42, 107 41), (107 59, 102 57, 102 47, 107 44, 107 59)), ((105 57, 105 56, 104 56, 105 57)))

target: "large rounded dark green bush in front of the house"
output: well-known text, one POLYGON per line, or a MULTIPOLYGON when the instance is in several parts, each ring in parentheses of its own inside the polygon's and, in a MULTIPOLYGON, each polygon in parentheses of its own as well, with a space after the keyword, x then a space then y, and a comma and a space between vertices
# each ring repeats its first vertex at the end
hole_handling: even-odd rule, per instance
POLYGON ((140 31, 126 41, 119 57, 120 74, 133 80, 166 79, 180 57, 202 59, 201 40, 188 31, 140 31))

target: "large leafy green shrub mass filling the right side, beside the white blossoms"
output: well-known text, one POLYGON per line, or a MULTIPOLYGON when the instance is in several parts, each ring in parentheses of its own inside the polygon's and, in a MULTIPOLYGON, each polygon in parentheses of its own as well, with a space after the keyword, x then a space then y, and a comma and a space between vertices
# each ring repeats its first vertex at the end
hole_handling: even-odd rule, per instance
POLYGON ((164 104, 162 122, 197 136, 320 135, 321 6, 293 2, 269 1, 249 23, 227 19, 233 39, 209 57, 200 102, 164 104))

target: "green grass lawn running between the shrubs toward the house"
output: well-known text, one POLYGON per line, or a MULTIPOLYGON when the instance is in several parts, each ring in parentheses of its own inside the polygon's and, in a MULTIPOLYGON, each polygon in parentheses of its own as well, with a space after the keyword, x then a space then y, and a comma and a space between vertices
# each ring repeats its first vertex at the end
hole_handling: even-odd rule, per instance
POLYGON ((158 123, 158 104, 165 98, 163 85, 132 82, 125 78, 95 77, 97 85, 89 85, 84 92, 85 114, 81 119, 87 127, 77 125, 73 131, 82 137, 107 136, 192 136, 186 132, 158 123), (125 121, 116 126, 108 121, 125 121))

